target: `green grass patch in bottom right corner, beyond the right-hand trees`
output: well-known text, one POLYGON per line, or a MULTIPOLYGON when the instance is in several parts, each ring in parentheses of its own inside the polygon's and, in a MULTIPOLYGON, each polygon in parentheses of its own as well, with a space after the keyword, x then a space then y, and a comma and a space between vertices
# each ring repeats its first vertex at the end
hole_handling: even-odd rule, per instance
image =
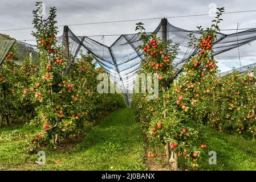
POLYGON ((208 130, 208 151, 216 151, 217 164, 210 165, 209 156, 202 158, 201 170, 256 170, 256 142, 238 134, 208 130))

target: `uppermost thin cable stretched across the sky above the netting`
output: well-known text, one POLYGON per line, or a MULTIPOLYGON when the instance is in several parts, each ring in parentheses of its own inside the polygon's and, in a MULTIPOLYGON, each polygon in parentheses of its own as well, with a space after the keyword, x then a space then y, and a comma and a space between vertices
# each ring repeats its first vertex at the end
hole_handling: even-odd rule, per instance
MULTIPOLYGON (((249 12, 255 12, 256 10, 247 10, 247 11, 230 11, 222 14, 235 14, 235 13, 249 13, 249 12)), ((193 16, 206 16, 206 15, 215 15, 213 14, 196 14, 196 15, 178 15, 178 16, 168 16, 165 18, 184 18, 184 17, 193 17, 193 16)), ((144 18, 144 19, 128 19, 128 20, 115 20, 115 21, 108 21, 108 22, 92 22, 92 23, 78 23, 78 24, 67 24, 67 26, 80 26, 80 25, 87 25, 87 24, 103 24, 103 23, 119 23, 119 22, 134 22, 139 20, 153 20, 153 19, 162 19, 162 17, 158 18, 144 18)), ((65 25, 57 25, 57 27, 63 27, 65 25)), ((29 28, 14 28, 14 29, 6 29, 6 30, 0 30, 0 31, 15 31, 15 30, 29 30, 33 29, 33 27, 29 28)))

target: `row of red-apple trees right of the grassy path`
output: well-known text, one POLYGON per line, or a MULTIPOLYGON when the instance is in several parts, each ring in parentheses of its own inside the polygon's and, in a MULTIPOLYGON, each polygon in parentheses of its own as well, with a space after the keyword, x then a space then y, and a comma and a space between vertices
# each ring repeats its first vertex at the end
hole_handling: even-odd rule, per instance
MULTIPOLYGON (((200 167, 201 155, 210 147, 205 127, 249 133, 253 138, 256 132, 255 72, 241 75, 234 71, 220 77, 217 61, 212 58, 223 12, 223 8, 218 9, 212 27, 199 27, 200 38, 190 35, 189 46, 199 49, 198 54, 183 65, 183 73, 172 83, 168 78, 177 72, 173 60, 179 45, 171 40, 162 42, 155 34, 139 33, 145 57, 141 72, 158 73, 162 90, 156 100, 149 100, 147 93, 134 94, 132 109, 147 130, 148 158, 165 156, 173 169, 177 169, 180 158, 189 167, 200 167), (165 154, 158 154, 158 148, 165 154)), ((144 28, 139 23, 136 30, 144 28)))

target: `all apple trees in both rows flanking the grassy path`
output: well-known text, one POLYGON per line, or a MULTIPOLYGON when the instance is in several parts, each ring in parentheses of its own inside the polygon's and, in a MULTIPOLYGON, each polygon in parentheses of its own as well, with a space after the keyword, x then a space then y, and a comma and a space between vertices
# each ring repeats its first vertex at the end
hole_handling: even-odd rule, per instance
MULTIPOLYGON (((159 80, 159 97, 149 100, 148 93, 135 93, 131 103, 147 135, 147 160, 164 160, 176 170, 179 161, 199 168, 201 156, 209 151, 206 127, 255 137, 256 70, 218 75, 213 47, 224 8, 217 10, 212 27, 198 27, 199 38, 189 35, 189 46, 200 51, 186 61, 180 74, 173 64, 180 45, 146 34, 143 23, 136 24, 143 42, 139 49, 144 52, 140 73, 157 73, 159 80)), ((44 20, 38 11, 33 11, 32 35, 38 43, 39 61, 25 58, 18 66, 19 55, 13 47, 0 67, 1 126, 4 121, 6 125, 26 121, 40 129, 27 143, 28 154, 80 135, 104 111, 125 106, 122 94, 97 92, 97 76, 105 71, 96 66, 90 53, 80 52, 70 71, 63 74, 68 60, 56 40, 56 9, 51 8, 44 20)))

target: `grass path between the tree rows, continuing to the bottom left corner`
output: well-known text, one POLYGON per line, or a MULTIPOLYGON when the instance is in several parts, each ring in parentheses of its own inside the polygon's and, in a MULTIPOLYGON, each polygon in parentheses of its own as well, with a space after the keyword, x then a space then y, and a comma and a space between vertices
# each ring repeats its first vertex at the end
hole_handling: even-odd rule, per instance
MULTIPOLYGON (((0 169, 18 170, 145 170, 146 143, 131 110, 117 109, 87 131, 82 142, 68 150, 46 148, 46 165, 36 164, 36 155, 26 155, 25 135, 30 126, 7 127, 0 136, 18 130, 22 137, 0 141, 0 169)), ((30 134, 29 134, 30 135, 30 134)), ((31 134, 32 135, 32 134, 31 134)), ((7 137, 8 138, 8 137, 7 137)))

